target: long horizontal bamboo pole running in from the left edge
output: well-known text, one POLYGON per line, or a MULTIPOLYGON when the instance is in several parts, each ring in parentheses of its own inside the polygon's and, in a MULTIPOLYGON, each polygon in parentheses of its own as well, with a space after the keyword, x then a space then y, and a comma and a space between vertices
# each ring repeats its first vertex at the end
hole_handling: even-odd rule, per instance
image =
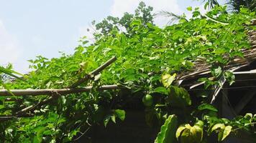
MULTIPOLYGON (((104 85, 98 88, 98 90, 111 90, 111 89, 119 89, 120 86, 114 85, 104 85)), ((60 95, 65 94, 76 94, 81 92, 90 92, 93 89, 93 86, 88 86, 84 88, 76 88, 76 89, 11 89, 10 91, 15 96, 38 96, 38 95, 52 95, 54 93, 58 93, 60 95)), ((13 97, 10 92, 6 89, 0 89, 0 96, 3 97, 13 97)))

